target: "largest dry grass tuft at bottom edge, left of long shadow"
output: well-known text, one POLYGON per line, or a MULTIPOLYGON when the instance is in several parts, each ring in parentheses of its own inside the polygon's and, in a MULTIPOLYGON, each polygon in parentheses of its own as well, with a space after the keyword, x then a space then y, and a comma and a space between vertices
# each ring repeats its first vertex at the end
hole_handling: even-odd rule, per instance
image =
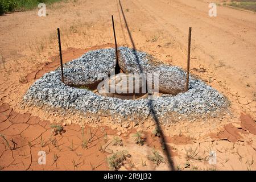
POLYGON ((114 153, 112 156, 107 158, 107 162, 109 164, 109 168, 117 171, 122 165, 123 162, 126 160, 127 157, 127 151, 118 151, 114 153))

